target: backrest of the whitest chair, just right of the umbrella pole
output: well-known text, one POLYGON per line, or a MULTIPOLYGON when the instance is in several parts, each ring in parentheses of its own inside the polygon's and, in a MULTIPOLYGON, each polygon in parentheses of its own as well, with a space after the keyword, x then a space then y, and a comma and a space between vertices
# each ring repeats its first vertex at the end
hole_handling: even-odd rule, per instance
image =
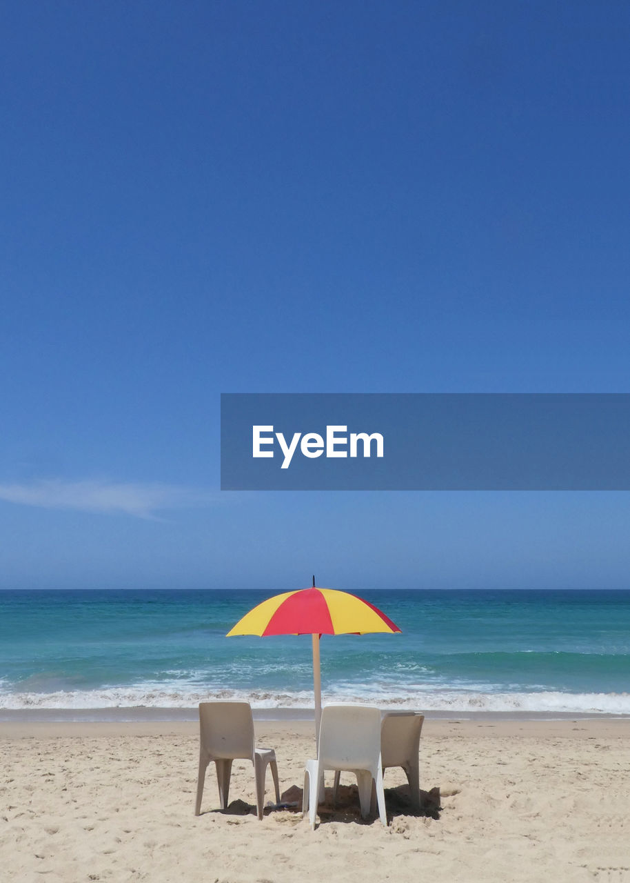
POLYGON ((380 709, 325 706, 319 727, 319 760, 326 769, 370 769, 380 754, 380 709))

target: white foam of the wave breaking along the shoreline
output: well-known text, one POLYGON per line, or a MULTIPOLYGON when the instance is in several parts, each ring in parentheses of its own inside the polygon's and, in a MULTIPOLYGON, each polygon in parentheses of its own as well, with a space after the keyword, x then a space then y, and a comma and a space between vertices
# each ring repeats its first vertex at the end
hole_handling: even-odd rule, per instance
MULTIPOLYGON (((244 699, 254 708, 312 708, 312 691, 266 692, 244 690, 164 689, 147 685, 94 690, 2 692, 0 709, 26 708, 191 708, 209 699, 244 699)), ((563 693, 431 691, 394 693, 374 690, 370 684, 326 691, 326 702, 372 702, 381 707, 414 708, 436 712, 533 712, 630 714, 630 693, 563 693)))

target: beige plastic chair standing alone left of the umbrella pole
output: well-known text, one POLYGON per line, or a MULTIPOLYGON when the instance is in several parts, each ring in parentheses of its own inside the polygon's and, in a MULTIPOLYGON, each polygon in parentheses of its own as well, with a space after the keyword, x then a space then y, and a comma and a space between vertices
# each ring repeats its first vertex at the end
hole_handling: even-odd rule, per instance
POLYGON ((206 768, 211 760, 216 766, 221 809, 228 806, 229 777, 232 761, 237 758, 251 760, 256 778, 256 810, 263 817, 265 802, 265 774, 267 764, 274 777, 275 802, 280 803, 278 765, 275 751, 256 748, 254 744, 254 721, 249 702, 199 702, 199 776, 195 815, 201 811, 206 768))

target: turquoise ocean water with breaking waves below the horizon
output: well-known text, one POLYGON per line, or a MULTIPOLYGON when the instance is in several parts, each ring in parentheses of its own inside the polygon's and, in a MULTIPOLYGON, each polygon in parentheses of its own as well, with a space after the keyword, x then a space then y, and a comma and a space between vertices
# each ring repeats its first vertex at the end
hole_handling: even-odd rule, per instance
MULTIPOLYGON (((312 707, 309 636, 225 637, 270 594, 0 592, 0 708, 312 707)), ((325 701, 630 714, 630 591, 361 595, 402 634, 324 636, 325 701)))

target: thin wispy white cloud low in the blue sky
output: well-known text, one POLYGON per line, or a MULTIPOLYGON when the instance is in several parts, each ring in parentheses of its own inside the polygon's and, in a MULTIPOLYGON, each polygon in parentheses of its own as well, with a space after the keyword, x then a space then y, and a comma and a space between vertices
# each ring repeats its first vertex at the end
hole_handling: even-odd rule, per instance
POLYGON ((209 491, 160 483, 104 480, 44 479, 27 484, 0 485, 0 500, 43 509, 79 509, 157 518, 166 509, 206 506, 217 497, 209 491))

